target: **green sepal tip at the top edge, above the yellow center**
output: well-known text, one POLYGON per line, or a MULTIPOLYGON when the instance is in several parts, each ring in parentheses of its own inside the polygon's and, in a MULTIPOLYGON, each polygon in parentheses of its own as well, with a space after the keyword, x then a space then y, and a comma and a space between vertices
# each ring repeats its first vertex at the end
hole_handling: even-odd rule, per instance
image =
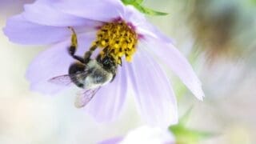
POLYGON ((149 14, 149 15, 167 15, 167 13, 163 13, 160 11, 152 10, 150 8, 147 8, 145 6, 142 6, 143 0, 122 0, 122 2, 125 5, 131 5, 134 6, 137 10, 142 12, 143 14, 149 14))

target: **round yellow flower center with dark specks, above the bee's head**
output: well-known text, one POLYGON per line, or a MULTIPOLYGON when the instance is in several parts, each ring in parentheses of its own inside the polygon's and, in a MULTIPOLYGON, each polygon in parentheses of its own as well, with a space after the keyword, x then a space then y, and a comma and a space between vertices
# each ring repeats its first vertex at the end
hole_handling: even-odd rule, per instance
POLYGON ((92 47, 101 48, 100 55, 103 58, 110 55, 117 64, 121 64, 122 56, 126 61, 131 62, 136 51, 138 35, 134 28, 123 21, 109 22, 100 27, 97 38, 92 47))

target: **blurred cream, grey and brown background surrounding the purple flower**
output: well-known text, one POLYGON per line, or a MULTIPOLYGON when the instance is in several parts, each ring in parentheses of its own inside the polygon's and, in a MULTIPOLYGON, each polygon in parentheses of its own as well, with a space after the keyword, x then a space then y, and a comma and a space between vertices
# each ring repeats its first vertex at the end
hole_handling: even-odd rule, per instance
MULTIPOLYGON (((0 28, 30 2, 0 0, 0 28)), ((199 102, 168 71, 179 115, 193 107, 187 126, 216 133, 201 143, 255 143, 256 1, 145 0, 144 5, 169 13, 148 19, 173 39, 202 80, 206 98, 199 102)), ((46 47, 14 44, 0 30, 0 143, 95 143, 144 124, 132 95, 117 121, 106 124, 74 107, 75 89, 56 96, 30 91, 26 67, 46 47)))

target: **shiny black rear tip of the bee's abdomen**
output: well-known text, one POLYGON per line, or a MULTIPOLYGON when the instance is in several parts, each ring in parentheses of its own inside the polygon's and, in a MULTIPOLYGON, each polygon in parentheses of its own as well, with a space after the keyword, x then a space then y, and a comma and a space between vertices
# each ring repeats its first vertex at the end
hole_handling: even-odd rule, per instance
POLYGON ((83 83, 81 82, 80 78, 78 75, 82 74, 85 70, 85 65, 83 65, 82 63, 74 63, 70 66, 69 68, 69 74, 70 74, 70 79, 72 82, 74 82, 74 84, 78 87, 83 88, 83 83))

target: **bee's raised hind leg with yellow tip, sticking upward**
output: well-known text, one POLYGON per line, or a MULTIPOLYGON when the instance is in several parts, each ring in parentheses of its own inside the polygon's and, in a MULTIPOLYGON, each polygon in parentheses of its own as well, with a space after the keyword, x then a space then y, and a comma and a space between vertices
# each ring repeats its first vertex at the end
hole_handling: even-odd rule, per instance
POLYGON ((78 47, 78 38, 77 34, 75 34, 75 31, 72 27, 68 27, 72 31, 72 36, 71 36, 71 46, 69 47, 69 54, 72 58, 78 60, 79 62, 84 62, 84 59, 82 57, 79 57, 78 55, 75 55, 75 51, 77 50, 78 47))

